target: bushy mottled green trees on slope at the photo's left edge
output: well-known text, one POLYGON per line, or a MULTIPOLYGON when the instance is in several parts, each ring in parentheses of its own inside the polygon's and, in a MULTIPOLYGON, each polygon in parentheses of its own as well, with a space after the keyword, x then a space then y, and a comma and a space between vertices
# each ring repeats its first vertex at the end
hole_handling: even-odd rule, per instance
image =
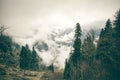
POLYGON ((4 34, 6 28, 2 26, 0 28, 0 63, 17 67, 19 66, 19 49, 16 48, 17 43, 13 42, 12 38, 4 34))

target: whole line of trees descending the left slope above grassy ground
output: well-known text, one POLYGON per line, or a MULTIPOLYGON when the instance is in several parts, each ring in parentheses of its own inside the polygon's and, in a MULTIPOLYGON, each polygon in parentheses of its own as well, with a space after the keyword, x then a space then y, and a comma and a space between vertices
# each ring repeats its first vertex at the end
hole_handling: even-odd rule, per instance
POLYGON ((6 29, 5 26, 0 27, 0 64, 24 70, 41 70, 42 58, 38 56, 34 46, 32 51, 27 44, 20 47, 4 33, 6 29))

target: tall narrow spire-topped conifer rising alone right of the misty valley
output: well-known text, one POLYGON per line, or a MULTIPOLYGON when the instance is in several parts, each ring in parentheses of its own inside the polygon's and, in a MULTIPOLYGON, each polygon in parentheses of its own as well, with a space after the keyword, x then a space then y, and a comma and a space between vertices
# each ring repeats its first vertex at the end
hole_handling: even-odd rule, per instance
POLYGON ((80 58, 81 58, 81 27, 76 24, 75 40, 73 44, 73 52, 70 54, 68 62, 65 66, 64 78, 66 80, 81 80, 80 58))

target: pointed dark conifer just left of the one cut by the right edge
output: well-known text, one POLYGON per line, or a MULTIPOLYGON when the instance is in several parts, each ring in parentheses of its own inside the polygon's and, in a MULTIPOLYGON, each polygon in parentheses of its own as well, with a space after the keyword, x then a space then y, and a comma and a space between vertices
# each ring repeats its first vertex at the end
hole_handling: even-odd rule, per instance
POLYGON ((102 80, 111 80, 111 76, 113 76, 112 51, 114 47, 114 39, 112 35, 112 24, 110 19, 108 19, 105 28, 101 30, 97 47, 97 58, 100 61, 99 78, 102 80))

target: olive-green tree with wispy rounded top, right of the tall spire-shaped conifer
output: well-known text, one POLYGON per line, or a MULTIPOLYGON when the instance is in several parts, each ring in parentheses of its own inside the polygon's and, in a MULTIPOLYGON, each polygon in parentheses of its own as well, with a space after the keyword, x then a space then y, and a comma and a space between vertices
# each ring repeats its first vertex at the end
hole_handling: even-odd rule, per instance
POLYGON ((96 47, 94 44, 95 40, 95 33, 94 30, 90 30, 88 34, 86 35, 86 38, 83 41, 82 44, 82 54, 83 54, 83 59, 82 59, 82 79, 83 80, 93 80, 93 60, 94 56, 96 53, 96 47))

